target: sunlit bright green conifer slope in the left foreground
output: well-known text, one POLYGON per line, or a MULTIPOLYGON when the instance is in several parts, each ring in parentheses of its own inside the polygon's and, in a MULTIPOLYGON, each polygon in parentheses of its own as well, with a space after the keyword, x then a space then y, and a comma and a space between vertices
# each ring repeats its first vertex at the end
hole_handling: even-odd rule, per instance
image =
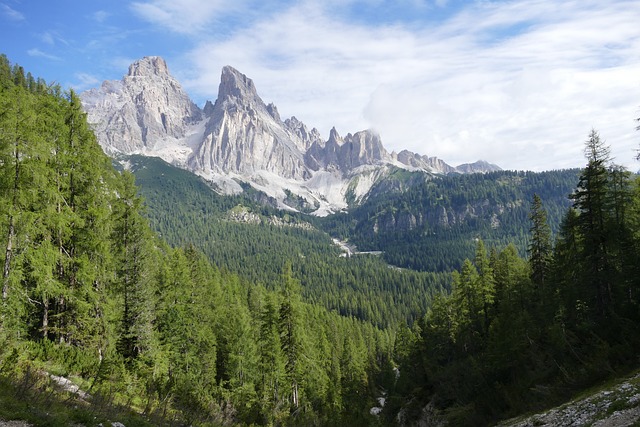
POLYGON ((150 425, 373 420, 389 331, 303 302, 286 264, 266 289, 171 248, 137 193, 77 96, 1 56, 0 385, 19 400, 0 416, 53 424, 55 373, 88 392, 68 423, 125 407, 150 425))

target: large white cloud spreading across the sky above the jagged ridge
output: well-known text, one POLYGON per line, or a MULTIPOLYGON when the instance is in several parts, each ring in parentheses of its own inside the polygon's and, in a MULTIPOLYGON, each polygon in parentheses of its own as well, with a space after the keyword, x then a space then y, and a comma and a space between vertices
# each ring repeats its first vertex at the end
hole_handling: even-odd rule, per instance
MULTIPOLYGON (((216 96, 230 64, 283 117, 326 137, 377 129, 387 148, 509 169, 575 167, 592 127, 635 167, 640 9, 632 1, 480 2, 422 29, 364 26, 315 3, 188 55, 187 86, 216 96), (193 65, 192 65, 193 64, 193 65)), ((172 66, 178 69, 179 66, 172 66)), ((204 94, 204 95, 203 95, 204 94)))

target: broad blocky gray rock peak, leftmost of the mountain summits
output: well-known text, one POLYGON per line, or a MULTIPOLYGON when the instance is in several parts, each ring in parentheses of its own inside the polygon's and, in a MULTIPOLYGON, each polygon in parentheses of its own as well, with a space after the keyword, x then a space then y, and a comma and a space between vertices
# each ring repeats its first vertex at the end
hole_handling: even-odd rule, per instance
POLYGON ((106 81, 81 94, 98 141, 110 154, 153 151, 183 139, 202 118, 159 57, 134 62, 120 81, 106 81))

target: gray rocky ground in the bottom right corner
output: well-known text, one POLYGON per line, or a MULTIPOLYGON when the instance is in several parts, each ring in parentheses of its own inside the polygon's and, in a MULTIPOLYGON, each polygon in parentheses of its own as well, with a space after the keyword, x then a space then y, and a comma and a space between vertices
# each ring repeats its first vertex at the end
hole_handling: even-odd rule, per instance
POLYGON ((498 426, 640 426, 640 373, 549 411, 508 420, 498 426))

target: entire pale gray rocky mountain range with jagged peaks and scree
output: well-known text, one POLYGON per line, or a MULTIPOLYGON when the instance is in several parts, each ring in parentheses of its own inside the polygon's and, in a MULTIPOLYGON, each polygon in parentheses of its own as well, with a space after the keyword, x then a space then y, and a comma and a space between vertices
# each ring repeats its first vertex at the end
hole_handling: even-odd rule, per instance
POLYGON ((253 81, 222 69, 218 97, 201 109, 160 57, 145 57, 120 81, 81 94, 98 141, 111 156, 142 154, 194 172, 221 193, 241 183, 266 193, 280 208, 324 216, 366 199, 395 169, 425 174, 500 170, 487 162, 453 167, 409 151, 389 153, 380 135, 363 130, 327 140, 295 117, 282 120, 253 81))

